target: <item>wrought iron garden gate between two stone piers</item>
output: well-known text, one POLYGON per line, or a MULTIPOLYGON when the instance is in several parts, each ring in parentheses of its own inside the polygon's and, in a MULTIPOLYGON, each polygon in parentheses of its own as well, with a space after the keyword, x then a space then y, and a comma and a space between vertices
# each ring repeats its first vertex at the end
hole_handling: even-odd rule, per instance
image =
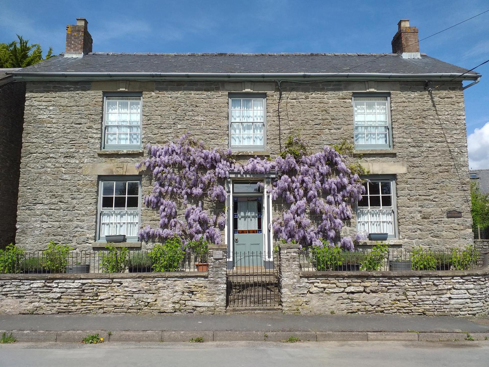
POLYGON ((227 307, 280 306, 278 256, 265 261, 263 252, 233 252, 227 270, 227 307))

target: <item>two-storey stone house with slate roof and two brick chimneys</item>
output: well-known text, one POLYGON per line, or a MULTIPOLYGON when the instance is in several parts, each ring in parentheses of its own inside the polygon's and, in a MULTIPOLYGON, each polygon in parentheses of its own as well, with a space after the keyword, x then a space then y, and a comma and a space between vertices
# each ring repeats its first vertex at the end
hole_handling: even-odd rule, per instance
MULTIPOLYGON (((92 52, 87 24, 67 26, 64 54, 11 72, 25 83, 20 246, 91 250, 124 234, 125 246, 150 248, 137 232, 158 222, 141 205, 151 175, 135 164, 148 143, 184 132, 240 159, 275 158, 289 135, 312 150, 352 142, 370 182, 345 232, 387 233, 407 248, 473 242, 462 82, 481 75, 420 53, 408 20, 388 54, 92 52), (451 210, 461 217, 447 217, 451 210)), ((269 193, 248 192, 263 180, 230 179, 227 206, 234 213, 248 198, 247 228, 264 221, 248 242, 269 256, 274 206, 269 193)), ((233 226, 229 214, 228 253, 233 226)))

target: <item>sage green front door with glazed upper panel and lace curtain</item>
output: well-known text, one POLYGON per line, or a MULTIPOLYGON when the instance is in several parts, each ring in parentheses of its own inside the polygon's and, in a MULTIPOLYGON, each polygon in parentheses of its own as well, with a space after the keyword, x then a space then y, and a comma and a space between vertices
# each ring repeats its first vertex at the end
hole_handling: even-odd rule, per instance
POLYGON ((263 266, 263 197, 233 198, 234 265, 263 266))

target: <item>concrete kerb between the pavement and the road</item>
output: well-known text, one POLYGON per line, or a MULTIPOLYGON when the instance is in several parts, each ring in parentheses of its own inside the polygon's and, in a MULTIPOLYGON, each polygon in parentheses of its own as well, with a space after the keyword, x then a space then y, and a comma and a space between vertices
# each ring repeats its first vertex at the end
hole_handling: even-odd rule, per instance
POLYGON ((489 333, 439 332, 356 332, 356 331, 146 331, 103 330, 25 331, 0 330, 17 342, 81 343, 89 334, 99 334, 105 342, 286 342, 290 337, 300 342, 458 342, 489 341, 489 333), (110 335, 109 335, 110 334, 110 335))

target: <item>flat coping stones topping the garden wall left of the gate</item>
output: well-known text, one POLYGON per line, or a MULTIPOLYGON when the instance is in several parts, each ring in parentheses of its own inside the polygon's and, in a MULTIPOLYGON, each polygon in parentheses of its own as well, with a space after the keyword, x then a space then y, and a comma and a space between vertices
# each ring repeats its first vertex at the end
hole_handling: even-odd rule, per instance
POLYGON ((208 276, 208 272, 167 273, 79 273, 79 274, 0 274, 0 279, 115 279, 115 278, 169 278, 208 276))

